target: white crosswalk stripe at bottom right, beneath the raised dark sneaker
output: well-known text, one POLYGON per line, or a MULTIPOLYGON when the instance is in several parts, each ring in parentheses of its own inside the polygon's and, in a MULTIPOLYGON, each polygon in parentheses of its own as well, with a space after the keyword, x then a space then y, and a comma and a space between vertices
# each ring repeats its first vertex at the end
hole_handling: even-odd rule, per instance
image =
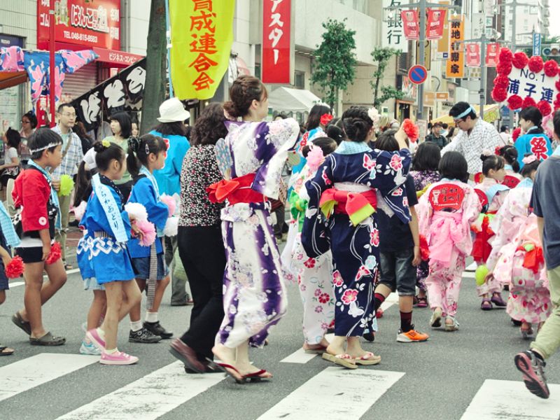
POLYGON ((550 398, 529 393, 523 382, 486 379, 461 420, 558 420, 560 385, 549 385, 550 398))

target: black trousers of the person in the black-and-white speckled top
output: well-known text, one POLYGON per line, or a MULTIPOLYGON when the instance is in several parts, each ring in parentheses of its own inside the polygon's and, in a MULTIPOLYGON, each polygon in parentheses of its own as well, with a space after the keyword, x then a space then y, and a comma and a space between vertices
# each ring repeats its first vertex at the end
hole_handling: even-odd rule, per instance
POLYGON ((190 327, 181 340, 200 360, 213 358, 212 347, 223 321, 225 251, 221 228, 179 227, 179 257, 188 276, 195 306, 190 327))

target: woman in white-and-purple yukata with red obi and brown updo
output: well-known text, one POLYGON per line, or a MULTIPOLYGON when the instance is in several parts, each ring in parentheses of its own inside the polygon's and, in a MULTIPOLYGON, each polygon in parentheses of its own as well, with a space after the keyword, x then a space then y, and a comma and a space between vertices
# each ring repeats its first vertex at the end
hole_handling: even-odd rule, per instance
POLYGON ((241 120, 225 123, 228 135, 216 144, 224 180, 207 189, 211 202, 226 202, 221 213, 225 316, 212 351, 236 381, 260 380, 272 374, 251 365, 248 346, 265 344, 288 304, 267 199, 278 198, 281 170, 300 127, 293 118, 262 122, 268 97, 258 78, 237 78, 230 97, 223 108, 241 120))

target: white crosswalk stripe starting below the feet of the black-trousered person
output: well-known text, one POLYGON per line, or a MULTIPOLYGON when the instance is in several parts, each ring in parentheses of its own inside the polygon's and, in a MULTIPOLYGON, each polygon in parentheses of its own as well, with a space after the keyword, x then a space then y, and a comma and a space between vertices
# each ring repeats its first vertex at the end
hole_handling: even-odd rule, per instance
POLYGON ((58 420, 158 419, 223 379, 224 375, 217 373, 186 374, 183 363, 174 362, 64 414, 58 420))

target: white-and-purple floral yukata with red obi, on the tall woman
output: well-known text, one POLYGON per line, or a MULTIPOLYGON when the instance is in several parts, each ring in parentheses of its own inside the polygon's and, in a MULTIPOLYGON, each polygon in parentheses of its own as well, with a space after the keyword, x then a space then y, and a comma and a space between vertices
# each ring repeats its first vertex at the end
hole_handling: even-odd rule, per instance
MULTIPOLYGON (((220 186, 228 190, 221 212, 227 259, 225 316, 216 343, 232 349, 247 340, 252 346, 262 346, 269 328, 286 312, 286 286, 266 197, 278 198, 281 170, 297 143, 300 127, 293 118, 226 125, 231 181, 213 185, 218 186, 216 195, 221 195, 220 186)), ((213 194, 210 198, 215 202, 213 194)))

